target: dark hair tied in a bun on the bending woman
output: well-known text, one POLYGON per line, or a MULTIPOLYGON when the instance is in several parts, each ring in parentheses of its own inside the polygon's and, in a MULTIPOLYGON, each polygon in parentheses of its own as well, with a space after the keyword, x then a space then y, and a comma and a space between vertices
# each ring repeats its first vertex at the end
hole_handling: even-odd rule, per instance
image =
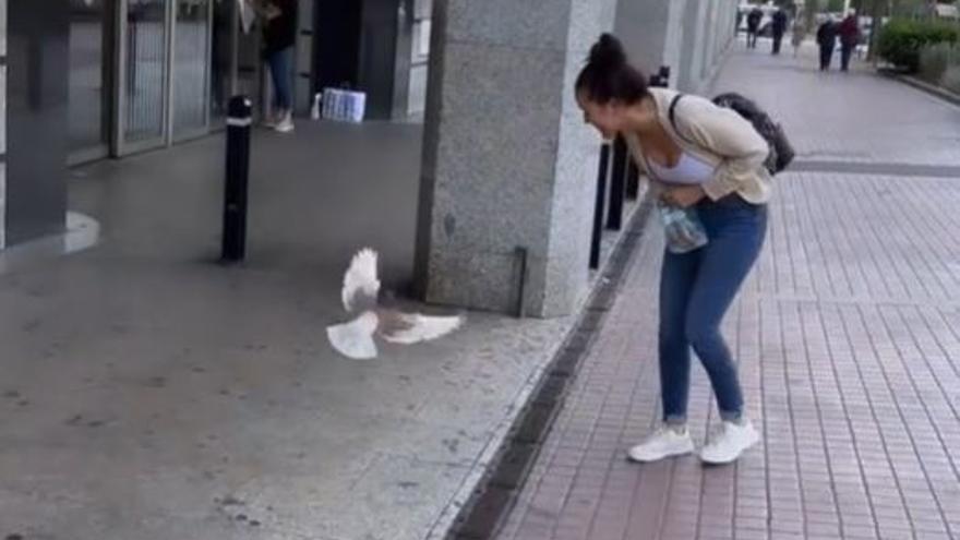
POLYGON ((574 89, 600 105, 612 99, 633 105, 649 94, 647 77, 629 64, 620 39, 611 34, 601 35, 590 48, 590 58, 577 76, 574 89))

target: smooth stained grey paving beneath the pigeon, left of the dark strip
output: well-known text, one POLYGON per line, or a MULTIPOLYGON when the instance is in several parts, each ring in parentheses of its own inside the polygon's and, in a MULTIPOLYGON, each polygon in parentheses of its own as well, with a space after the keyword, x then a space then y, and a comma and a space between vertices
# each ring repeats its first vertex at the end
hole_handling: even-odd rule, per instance
POLYGON ((0 538, 443 538, 574 321, 329 348, 353 250, 410 279, 420 133, 259 132, 231 267, 220 137, 74 171, 101 242, 0 264, 0 538))

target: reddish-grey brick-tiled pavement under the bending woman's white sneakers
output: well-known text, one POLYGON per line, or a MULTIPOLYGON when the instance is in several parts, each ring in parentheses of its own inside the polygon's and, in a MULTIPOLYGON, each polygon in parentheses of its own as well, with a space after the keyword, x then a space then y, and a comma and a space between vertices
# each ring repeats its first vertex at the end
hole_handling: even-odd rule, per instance
MULTIPOLYGON (((736 52, 801 159, 960 163, 960 109, 809 56, 736 52)), ((793 172, 724 333, 765 442, 735 466, 627 463, 659 417, 656 224, 502 540, 960 538, 960 178, 793 172)), ((717 420, 701 368, 703 441, 717 420)))

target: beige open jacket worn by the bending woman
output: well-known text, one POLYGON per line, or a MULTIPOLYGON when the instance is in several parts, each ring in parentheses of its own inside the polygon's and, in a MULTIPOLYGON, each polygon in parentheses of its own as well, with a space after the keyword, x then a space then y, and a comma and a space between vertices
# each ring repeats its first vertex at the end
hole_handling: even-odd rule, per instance
MULTIPOLYGON (((753 204, 765 204, 770 200, 770 173, 764 167, 770 149, 753 124, 732 109, 686 94, 676 104, 674 130, 670 122, 670 104, 677 92, 650 88, 650 94, 657 104, 660 123, 673 141, 683 152, 715 167, 713 178, 703 184, 708 197, 717 201, 737 193, 753 204)), ((624 133, 624 139, 637 166, 650 179, 653 194, 658 194, 664 185, 650 175, 636 134, 624 133)))

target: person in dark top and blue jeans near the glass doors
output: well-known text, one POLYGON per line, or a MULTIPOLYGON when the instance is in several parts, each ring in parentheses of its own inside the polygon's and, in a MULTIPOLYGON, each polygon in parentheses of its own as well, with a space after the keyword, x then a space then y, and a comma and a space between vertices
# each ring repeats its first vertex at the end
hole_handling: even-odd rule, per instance
POLYGON ((274 87, 273 116, 264 124, 280 133, 293 131, 293 48, 297 0, 247 0, 263 24, 263 53, 274 87))

